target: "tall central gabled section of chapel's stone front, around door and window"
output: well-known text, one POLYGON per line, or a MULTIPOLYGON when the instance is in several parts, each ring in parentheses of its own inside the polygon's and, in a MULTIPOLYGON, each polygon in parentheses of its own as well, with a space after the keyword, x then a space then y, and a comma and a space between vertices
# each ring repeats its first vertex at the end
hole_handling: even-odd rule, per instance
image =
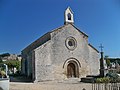
POLYGON ((67 25, 60 30, 53 32, 51 35, 51 60, 54 68, 54 76, 56 79, 67 78, 65 75, 67 68, 63 68, 63 64, 69 58, 75 58, 79 61, 79 77, 84 77, 89 74, 89 48, 87 37, 76 30, 72 25, 67 25), (77 41, 77 47, 74 50, 69 50, 65 41, 68 37, 74 37, 77 41))

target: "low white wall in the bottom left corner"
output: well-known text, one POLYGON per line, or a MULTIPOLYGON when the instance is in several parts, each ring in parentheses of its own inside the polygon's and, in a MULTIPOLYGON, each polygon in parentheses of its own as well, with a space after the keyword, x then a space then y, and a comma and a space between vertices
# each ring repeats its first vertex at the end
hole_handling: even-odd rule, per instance
POLYGON ((0 90, 9 90, 8 78, 0 78, 0 90))

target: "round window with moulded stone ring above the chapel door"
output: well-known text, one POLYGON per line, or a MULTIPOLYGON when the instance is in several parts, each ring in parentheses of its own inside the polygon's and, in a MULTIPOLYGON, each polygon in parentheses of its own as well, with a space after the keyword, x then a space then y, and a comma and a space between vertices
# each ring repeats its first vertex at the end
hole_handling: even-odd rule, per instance
POLYGON ((73 37, 68 37, 66 39, 66 47, 70 50, 74 50, 77 46, 77 42, 75 40, 75 38, 73 37))

